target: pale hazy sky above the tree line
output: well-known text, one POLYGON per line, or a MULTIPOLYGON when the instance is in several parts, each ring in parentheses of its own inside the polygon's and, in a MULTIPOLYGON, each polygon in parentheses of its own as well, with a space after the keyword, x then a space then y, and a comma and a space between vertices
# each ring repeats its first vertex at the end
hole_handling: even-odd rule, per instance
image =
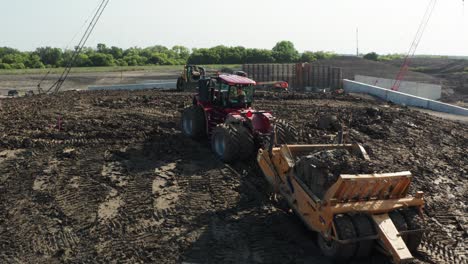
MULTIPOLYGON (((361 52, 404 53, 429 1, 111 0, 87 46, 272 48, 291 40, 300 51, 352 54, 359 27, 361 52)), ((0 0, 0 46, 65 48, 99 2, 0 0)), ((468 55, 464 9, 462 0, 439 0, 417 53, 468 55)))

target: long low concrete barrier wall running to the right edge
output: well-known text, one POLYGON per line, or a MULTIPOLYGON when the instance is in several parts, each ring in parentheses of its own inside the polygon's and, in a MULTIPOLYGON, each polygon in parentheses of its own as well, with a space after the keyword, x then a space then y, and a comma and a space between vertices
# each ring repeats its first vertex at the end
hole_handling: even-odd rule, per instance
POLYGON ((402 92, 387 90, 382 87, 377 87, 356 81, 344 80, 343 84, 344 90, 347 93, 364 93, 399 105, 414 106, 438 112, 468 116, 467 108, 446 104, 410 94, 405 94, 402 92))

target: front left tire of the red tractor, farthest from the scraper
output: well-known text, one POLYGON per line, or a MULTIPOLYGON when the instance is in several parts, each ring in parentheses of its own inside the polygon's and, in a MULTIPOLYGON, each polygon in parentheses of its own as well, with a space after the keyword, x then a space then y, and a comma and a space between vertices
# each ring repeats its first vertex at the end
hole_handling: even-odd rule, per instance
POLYGON ((205 112, 201 107, 190 106, 182 113, 182 133, 192 139, 200 139, 206 136, 205 112))

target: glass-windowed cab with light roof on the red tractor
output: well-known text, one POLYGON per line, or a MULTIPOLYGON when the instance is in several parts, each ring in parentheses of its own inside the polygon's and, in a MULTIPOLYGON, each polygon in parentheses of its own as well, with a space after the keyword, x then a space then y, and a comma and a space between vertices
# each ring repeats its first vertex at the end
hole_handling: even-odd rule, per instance
POLYGON ((238 75, 222 74, 199 82, 198 100, 215 108, 249 108, 252 106, 256 82, 238 75))

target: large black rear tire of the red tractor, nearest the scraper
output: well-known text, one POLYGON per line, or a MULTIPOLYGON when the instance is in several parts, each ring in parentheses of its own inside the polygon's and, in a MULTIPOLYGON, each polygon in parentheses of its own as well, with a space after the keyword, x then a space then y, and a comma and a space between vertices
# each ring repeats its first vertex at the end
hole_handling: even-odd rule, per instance
POLYGON ((226 163, 246 160, 254 152, 253 136, 241 124, 221 124, 213 131, 211 148, 226 163))

